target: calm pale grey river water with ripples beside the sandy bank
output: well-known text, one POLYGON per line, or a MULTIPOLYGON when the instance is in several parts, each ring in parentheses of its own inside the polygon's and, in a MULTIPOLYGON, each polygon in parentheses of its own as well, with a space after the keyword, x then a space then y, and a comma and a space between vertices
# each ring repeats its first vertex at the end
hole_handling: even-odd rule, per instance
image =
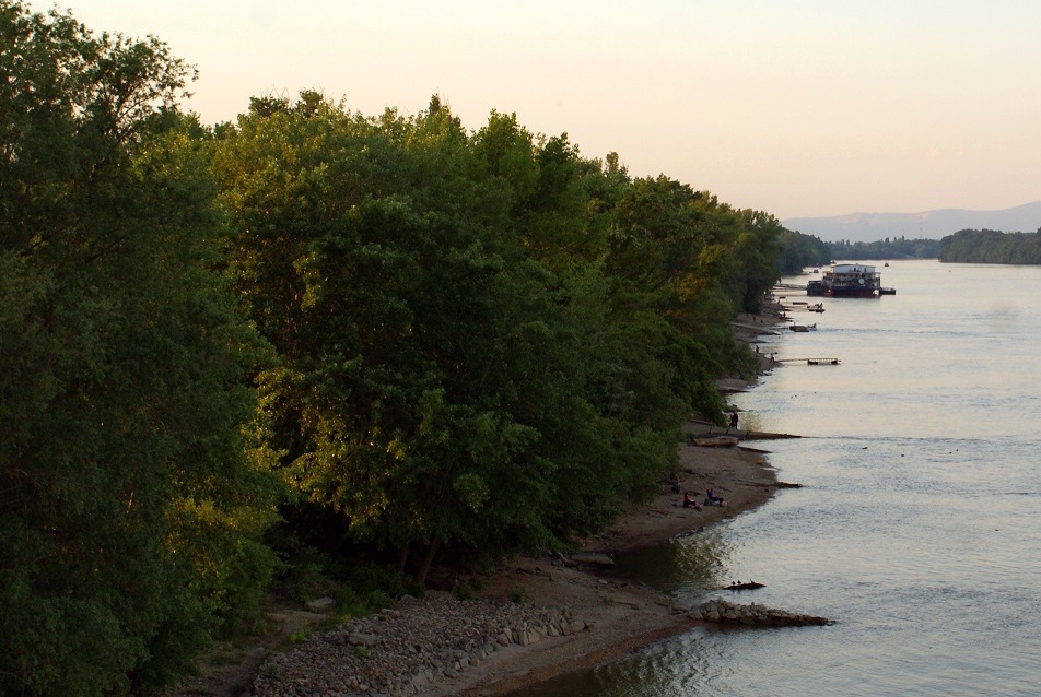
POLYGON ((1041 268, 875 263, 897 295, 814 298, 817 331, 760 347, 799 361, 733 398, 804 436, 750 444, 803 487, 620 559, 687 604, 834 624, 697 628, 517 697, 1041 694, 1041 268))

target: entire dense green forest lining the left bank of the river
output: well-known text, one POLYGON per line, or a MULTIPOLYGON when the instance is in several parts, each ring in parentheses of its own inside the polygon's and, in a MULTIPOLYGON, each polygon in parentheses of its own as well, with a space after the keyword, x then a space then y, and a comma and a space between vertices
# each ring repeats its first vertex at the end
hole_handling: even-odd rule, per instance
POLYGON ((4 695, 152 694, 272 593, 565 550, 757 368, 769 213, 436 95, 207 126, 160 39, 16 0, 0 42, 4 695))

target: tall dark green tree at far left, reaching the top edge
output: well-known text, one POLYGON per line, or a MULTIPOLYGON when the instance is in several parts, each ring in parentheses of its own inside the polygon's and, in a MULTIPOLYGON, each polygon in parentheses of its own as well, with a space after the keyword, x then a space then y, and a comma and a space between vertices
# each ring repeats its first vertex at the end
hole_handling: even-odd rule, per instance
POLYGON ((138 692, 270 570, 260 346, 212 271, 190 69, 8 0, 0 40, 0 692, 138 692))

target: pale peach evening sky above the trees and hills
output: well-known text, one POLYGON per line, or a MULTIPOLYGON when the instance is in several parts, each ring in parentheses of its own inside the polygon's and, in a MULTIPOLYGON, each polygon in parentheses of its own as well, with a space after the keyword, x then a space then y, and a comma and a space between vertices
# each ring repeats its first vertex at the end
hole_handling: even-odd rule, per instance
MULTIPOLYGON (((32 0, 34 10, 50 2, 32 0)), ((780 218, 1041 200, 1038 0, 63 0, 199 70, 185 108, 440 94, 780 218)))

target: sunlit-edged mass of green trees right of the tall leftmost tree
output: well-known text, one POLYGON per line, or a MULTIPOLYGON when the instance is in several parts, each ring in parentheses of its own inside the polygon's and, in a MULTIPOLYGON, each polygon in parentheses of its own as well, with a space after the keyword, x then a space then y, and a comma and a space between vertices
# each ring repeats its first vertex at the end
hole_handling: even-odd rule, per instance
POLYGON ((308 506, 424 578, 601 529, 753 370, 729 320, 780 226, 434 98, 378 118, 255 101, 214 156, 246 312, 280 361, 269 446, 308 506), (422 551, 416 558, 412 551, 422 551))

